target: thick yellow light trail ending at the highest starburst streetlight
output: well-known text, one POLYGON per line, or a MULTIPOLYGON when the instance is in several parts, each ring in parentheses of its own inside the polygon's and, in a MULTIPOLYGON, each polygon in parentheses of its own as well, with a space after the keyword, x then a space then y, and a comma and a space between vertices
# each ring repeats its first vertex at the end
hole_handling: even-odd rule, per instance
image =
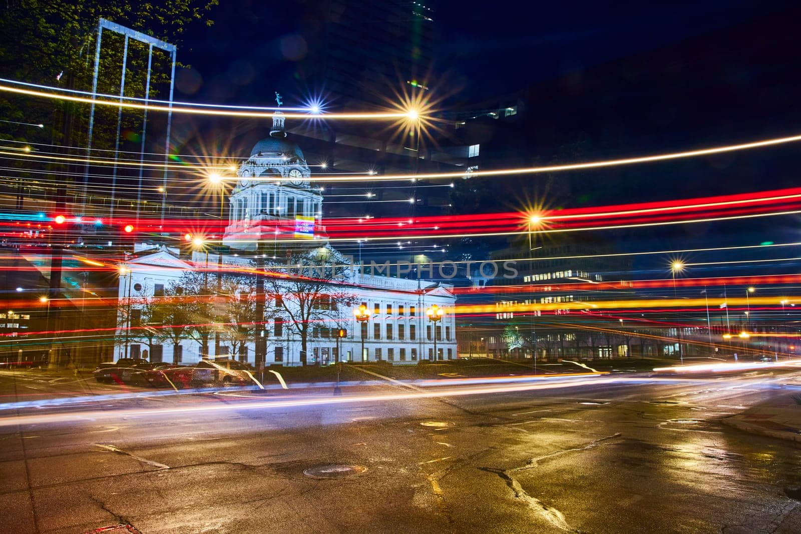
MULTIPOLYGON (((87 104, 97 104, 98 106, 122 107, 134 110, 148 111, 167 111, 172 113, 195 114, 195 115, 214 115, 217 117, 248 117, 248 118, 272 118, 276 111, 237 111, 237 110, 213 110, 208 108, 192 108, 183 106, 155 106, 152 104, 137 104, 135 102, 119 102, 103 100, 102 98, 87 98, 72 96, 70 94, 54 94, 46 91, 22 89, 0 85, 0 91, 14 94, 26 94, 40 98, 55 98, 58 100, 68 100, 70 102, 83 102, 87 104)), ((283 113, 283 112, 282 112, 283 113)), ((337 118, 337 119, 372 119, 372 118, 409 118, 408 111, 390 111, 380 113, 283 113, 286 118, 337 118)))

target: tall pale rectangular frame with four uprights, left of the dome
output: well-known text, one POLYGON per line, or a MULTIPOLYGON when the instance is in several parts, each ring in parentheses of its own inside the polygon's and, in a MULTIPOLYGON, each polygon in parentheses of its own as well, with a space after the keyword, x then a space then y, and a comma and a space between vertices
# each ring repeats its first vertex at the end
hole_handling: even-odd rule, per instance
MULTIPOLYGON (((147 106, 148 99, 150 98, 150 85, 151 85, 151 70, 153 65, 153 47, 159 48, 160 50, 164 50, 168 54, 170 54, 171 59, 171 70, 170 70, 170 98, 168 100, 168 107, 169 110, 167 111, 167 135, 164 141, 164 174, 162 179, 162 193, 161 193, 161 219, 162 219, 162 226, 163 226, 163 219, 166 215, 166 203, 167 203, 167 162, 170 156, 170 130, 172 126, 172 97, 175 90, 175 54, 177 52, 177 47, 175 45, 171 45, 168 42, 163 42, 160 39, 153 38, 150 35, 143 34, 142 32, 131 30, 131 28, 127 28, 126 26, 121 26, 115 22, 111 22, 105 18, 101 18, 98 22, 98 37, 97 42, 95 44, 95 74, 92 78, 92 104, 91 110, 89 113, 89 136, 87 139, 87 158, 91 158, 91 149, 92 149, 92 139, 95 130, 95 99, 98 90, 98 74, 100 70, 100 49, 103 44, 103 30, 108 30, 114 32, 115 34, 120 34, 125 37, 125 46, 123 48, 123 66, 122 66, 122 78, 119 85, 119 103, 123 103, 123 99, 125 98, 125 71, 127 69, 127 62, 128 62, 128 41, 129 39, 134 39, 135 41, 143 42, 148 46, 147 50, 147 82, 145 83, 145 99, 144 103, 147 106)), ((116 187, 117 187, 117 160, 119 158, 119 133, 120 127, 123 121, 123 107, 119 107, 119 111, 117 113, 117 136, 115 139, 115 151, 114 151, 114 171, 111 178, 111 211, 109 216, 114 215, 114 203, 116 197, 116 187)), ((145 139, 147 135, 147 107, 144 110, 144 120, 142 125, 142 148, 139 154, 139 188, 137 190, 137 204, 136 204, 136 215, 137 219, 139 219, 139 204, 142 200, 142 180, 143 180, 143 171, 144 171, 144 152, 145 152, 145 139)), ((83 177, 83 198, 87 199, 87 187, 89 185, 89 162, 87 162, 84 177, 83 177)))

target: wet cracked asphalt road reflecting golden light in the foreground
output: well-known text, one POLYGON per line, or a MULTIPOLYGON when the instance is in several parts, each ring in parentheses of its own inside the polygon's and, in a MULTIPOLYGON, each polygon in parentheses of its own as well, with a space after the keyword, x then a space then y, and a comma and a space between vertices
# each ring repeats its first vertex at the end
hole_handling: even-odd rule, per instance
POLYGON ((121 388, 50 380, 0 374, 4 404, 75 400, 0 412, 0 532, 801 532, 801 451, 718 421, 794 372, 97 400, 121 388))

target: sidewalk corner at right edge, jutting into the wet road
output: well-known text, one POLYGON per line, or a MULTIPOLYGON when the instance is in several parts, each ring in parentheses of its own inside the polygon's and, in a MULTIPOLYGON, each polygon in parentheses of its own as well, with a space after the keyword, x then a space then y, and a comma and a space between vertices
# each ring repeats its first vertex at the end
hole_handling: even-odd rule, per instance
POLYGON ((743 432, 801 443, 801 404, 790 395, 749 408, 721 420, 721 423, 743 432))

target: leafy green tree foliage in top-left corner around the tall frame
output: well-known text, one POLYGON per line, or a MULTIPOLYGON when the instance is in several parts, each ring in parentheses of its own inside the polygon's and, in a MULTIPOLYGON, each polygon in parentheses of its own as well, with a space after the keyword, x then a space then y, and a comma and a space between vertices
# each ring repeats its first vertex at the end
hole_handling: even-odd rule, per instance
MULTIPOLYGON (((91 90, 95 63, 95 39, 99 18, 107 18, 143 34, 179 45, 192 24, 211 25, 208 16, 218 0, 151 0, 105 2, 103 0, 6 0, 0 10, 0 73, 4 78, 24 82, 91 90)), ((103 54, 99 92, 119 93, 123 38, 103 32, 103 54)), ((158 98, 169 75, 163 63, 166 54, 154 53, 151 97, 158 98)), ((126 72, 127 95, 143 96, 147 76, 147 46, 131 42, 126 72)), ((4 130, 14 132, 6 138, 24 135, 31 143, 59 143, 66 130, 73 130, 71 144, 85 142, 88 105, 72 105, 83 121, 64 124, 64 110, 58 101, 22 95, 0 94, 0 114, 7 120, 42 123, 43 129, 4 130), (80 127, 78 127, 80 126, 80 127), (22 131, 22 135, 20 134, 22 131)), ((113 114, 116 110, 103 110, 113 114)), ((135 115, 138 117, 138 115, 135 115)), ((127 122, 135 123, 135 117, 127 122)), ((103 125, 106 122, 99 121, 103 125)), ((100 139, 116 130, 100 126, 100 139), (113 130, 113 131, 112 131, 113 130)), ((107 144, 107 143, 106 143, 107 144)))

